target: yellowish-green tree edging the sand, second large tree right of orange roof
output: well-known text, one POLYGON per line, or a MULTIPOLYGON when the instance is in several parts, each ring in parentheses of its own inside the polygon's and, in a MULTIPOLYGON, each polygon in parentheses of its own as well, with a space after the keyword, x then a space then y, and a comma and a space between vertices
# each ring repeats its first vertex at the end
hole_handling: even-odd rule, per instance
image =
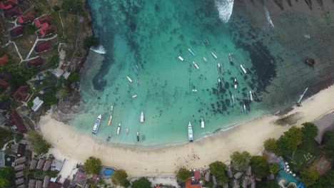
POLYGON ((251 154, 249 152, 233 152, 231 155, 232 167, 236 170, 246 171, 249 162, 251 162, 251 154))

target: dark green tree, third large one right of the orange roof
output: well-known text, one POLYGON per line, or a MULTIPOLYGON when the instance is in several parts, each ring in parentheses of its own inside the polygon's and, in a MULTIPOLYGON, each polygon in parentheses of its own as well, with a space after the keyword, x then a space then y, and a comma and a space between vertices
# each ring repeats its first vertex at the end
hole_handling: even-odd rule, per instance
POLYGON ((256 177, 265 177, 268 174, 268 164, 265 157, 255 155, 251 157, 252 172, 256 177))

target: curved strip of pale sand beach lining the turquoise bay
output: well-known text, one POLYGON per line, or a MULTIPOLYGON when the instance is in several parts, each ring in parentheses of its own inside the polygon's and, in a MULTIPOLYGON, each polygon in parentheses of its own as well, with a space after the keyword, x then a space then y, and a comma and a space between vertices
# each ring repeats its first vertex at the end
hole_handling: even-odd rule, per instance
MULTIPOLYGON (((297 125, 313 121, 334 108, 334 86, 308 98, 303 106, 288 114, 300 113, 297 125)), ((40 127, 46 140, 63 155, 84 162, 90 156, 99 157, 103 164, 125 169, 132 176, 170 176, 178 167, 206 167, 216 160, 227 161, 232 152, 247 150, 258 154, 263 141, 279 137, 290 126, 274 125, 277 116, 265 115, 231 130, 219 132, 198 142, 160 149, 135 149, 112 146, 93 140, 69 125, 54 120, 51 113, 41 117, 40 127)))

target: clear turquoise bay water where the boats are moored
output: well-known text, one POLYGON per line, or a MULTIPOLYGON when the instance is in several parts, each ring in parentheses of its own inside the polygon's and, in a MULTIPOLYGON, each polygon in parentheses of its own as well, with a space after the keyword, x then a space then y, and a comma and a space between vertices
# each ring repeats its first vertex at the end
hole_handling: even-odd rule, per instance
MULTIPOLYGON (((245 21, 233 17, 223 23, 215 1, 195 4, 190 0, 154 3, 104 0, 88 1, 88 5, 94 32, 106 53, 89 54, 81 71, 82 110, 69 124, 91 132, 93 122, 101 114, 98 134, 92 135, 98 139, 105 140, 111 135, 108 142, 129 145, 187 142, 190 121, 194 138, 198 140, 216 130, 280 109, 298 98, 296 91, 305 87, 293 88, 290 98, 278 100, 277 105, 266 102, 268 96, 263 93, 269 93, 265 87, 276 75, 278 58, 262 43, 255 46, 256 51, 249 51, 254 46, 248 43, 253 45, 256 40, 255 36, 244 37, 246 33, 240 27, 246 25, 245 21), (203 38, 209 44, 202 43, 203 38), (228 53, 233 53, 233 63, 228 61, 228 53), (221 85, 218 79, 222 80, 221 85), (238 80, 236 89, 234 79, 238 80), (137 97, 132 98, 133 95, 137 97), (108 126, 111 105, 113 121, 108 126), (143 123, 140 122, 142 111, 143 123), (201 117, 205 120, 204 128, 201 128, 201 117), (121 133, 117 135, 119 123, 121 133)), ((265 34, 253 32, 265 43, 268 38, 265 34)), ((270 42, 275 50, 280 49, 275 41, 270 42)))

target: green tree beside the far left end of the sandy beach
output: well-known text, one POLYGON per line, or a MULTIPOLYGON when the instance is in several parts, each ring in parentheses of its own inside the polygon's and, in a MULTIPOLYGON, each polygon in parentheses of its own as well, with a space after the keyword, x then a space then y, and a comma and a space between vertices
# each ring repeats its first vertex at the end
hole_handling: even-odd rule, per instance
POLYGON ((49 152, 49 148, 51 145, 49 142, 44 140, 43 135, 39 134, 35 130, 29 130, 26 135, 26 140, 30 143, 31 150, 36 152, 37 154, 44 154, 49 152))

